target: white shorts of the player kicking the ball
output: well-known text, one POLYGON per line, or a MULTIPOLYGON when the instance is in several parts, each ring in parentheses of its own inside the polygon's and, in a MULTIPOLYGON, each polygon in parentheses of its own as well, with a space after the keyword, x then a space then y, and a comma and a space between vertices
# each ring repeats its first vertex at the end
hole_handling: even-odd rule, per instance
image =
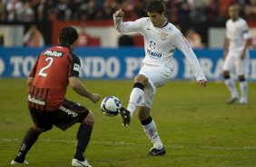
POLYGON ((139 74, 148 78, 148 83, 144 87, 143 102, 139 106, 151 108, 156 88, 162 87, 170 80, 172 68, 144 64, 139 74))

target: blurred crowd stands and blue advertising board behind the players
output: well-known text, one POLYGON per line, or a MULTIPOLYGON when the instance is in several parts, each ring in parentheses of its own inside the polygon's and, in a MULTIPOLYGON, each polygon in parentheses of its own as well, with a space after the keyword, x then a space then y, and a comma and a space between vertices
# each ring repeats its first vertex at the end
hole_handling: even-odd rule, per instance
MULTIPOLYGON (((44 48, 31 48, 24 44, 25 32, 31 25, 37 25, 44 35, 44 47, 57 44, 57 37, 64 25, 73 25, 78 31, 83 23, 91 43, 77 47, 75 53, 86 64, 82 71, 84 79, 132 79, 143 57, 143 38, 131 34, 133 46, 122 48, 119 45, 121 34, 113 27, 113 12, 122 8, 124 20, 134 20, 145 16, 144 6, 148 1, 141 0, 11 0, 0 2, 0 34, 4 43, 0 46, 0 77, 25 77, 34 58, 44 48), (20 7, 13 13, 10 6, 20 7), (42 9, 43 8, 43 9, 42 9), (13 15, 13 17, 11 17, 13 15), (33 57, 33 58, 32 58, 33 57), (112 62, 113 61, 113 62, 112 62), (88 66, 89 65, 89 66, 88 66)), ((238 4, 241 16, 246 19, 252 34, 251 63, 248 74, 250 81, 256 81, 256 14, 253 13, 254 0, 173 0, 164 1, 166 18, 177 25, 185 35, 194 29, 202 38, 202 47, 193 48, 199 57, 203 71, 210 80, 222 80, 222 45, 225 21, 228 18, 227 6, 238 4), (252 11, 252 12, 251 12, 252 11)), ((191 69, 178 51, 174 54, 172 79, 193 79, 191 69)))

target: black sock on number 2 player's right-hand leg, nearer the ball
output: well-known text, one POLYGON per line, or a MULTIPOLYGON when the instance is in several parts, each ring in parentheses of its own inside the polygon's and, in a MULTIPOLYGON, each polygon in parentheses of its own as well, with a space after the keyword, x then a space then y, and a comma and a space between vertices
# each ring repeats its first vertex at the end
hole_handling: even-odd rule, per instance
POLYGON ((84 162, 84 152, 86 150, 86 147, 88 143, 90 142, 91 133, 93 131, 93 124, 91 123, 81 123, 76 139, 77 139, 77 145, 76 145, 76 152, 74 154, 74 158, 84 162))

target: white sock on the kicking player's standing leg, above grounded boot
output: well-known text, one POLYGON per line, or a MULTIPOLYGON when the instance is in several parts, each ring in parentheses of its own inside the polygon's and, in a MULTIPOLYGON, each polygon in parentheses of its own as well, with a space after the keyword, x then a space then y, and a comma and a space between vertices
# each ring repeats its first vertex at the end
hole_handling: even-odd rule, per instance
POLYGON ((155 123, 152 121, 151 123, 143 125, 143 130, 148 136, 148 138, 150 139, 150 141, 153 143, 153 147, 157 149, 162 149, 163 145, 157 133, 157 128, 155 123))

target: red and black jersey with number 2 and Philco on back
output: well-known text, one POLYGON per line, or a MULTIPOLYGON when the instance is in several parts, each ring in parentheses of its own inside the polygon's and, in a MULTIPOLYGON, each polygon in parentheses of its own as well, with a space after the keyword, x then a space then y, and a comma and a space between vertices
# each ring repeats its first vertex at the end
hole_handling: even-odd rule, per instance
POLYGON ((29 107, 54 111, 64 102, 68 78, 79 77, 80 60, 67 45, 44 50, 32 68, 34 77, 29 89, 29 107))

